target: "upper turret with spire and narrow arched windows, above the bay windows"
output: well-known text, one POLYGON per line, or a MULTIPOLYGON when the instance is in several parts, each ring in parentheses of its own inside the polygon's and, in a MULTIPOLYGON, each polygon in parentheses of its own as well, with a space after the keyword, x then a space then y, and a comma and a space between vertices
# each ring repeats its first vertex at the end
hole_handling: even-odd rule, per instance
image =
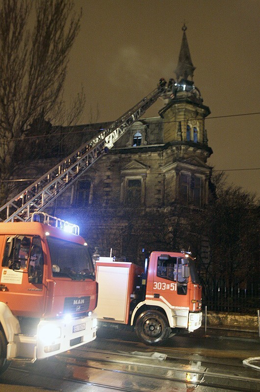
POLYGON ((167 92, 163 97, 165 106, 159 115, 164 123, 164 143, 185 146, 183 156, 184 150, 192 147, 193 153, 196 150, 196 155, 207 162, 212 150, 208 147, 205 118, 210 114, 210 110, 203 104, 200 91, 193 82, 195 67, 191 61, 186 29, 183 25, 182 45, 175 70, 176 80, 169 80, 167 92))

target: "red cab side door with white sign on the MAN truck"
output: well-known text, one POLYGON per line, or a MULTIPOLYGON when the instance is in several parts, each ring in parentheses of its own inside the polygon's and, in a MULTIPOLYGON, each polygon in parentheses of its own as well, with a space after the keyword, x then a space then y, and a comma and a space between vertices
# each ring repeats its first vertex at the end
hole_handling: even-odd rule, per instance
POLYGON ((5 235, 0 260, 0 300, 16 316, 42 317, 45 265, 40 237, 5 235))

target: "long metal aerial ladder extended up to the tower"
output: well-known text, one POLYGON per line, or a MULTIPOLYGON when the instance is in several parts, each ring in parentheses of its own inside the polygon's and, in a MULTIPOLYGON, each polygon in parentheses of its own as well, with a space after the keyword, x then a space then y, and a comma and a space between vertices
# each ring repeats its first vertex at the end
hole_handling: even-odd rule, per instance
POLYGON ((166 91, 166 81, 160 79, 158 87, 139 101, 108 128, 83 144, 49 172, 29 185, 0 208, 1 221, 29 221, 34 212, 43 211, 68 186, 94 165, 104 153, 137 121, 166 91))

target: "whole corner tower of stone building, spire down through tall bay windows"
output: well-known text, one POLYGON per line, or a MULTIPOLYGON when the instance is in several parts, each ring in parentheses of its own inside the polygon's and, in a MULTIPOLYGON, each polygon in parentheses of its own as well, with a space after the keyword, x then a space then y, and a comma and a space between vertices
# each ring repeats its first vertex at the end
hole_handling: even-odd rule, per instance
MULTIPOLYGON (((176 79, 169 80, 167 91, 162 97, 165 105, 159 111, 163 121, 165 148, 171 150, 166 167, 171 167, 174 175, 166 199, 170 200, 171 195, 174 195, 177 202, 203 207, 208 203, 208 180, 211 174, 207 160, 212 150, 208 147, 205 129, 205 118, 210 110, 203 104, 201 93, 193 82, 195 67, 191 61, 186 29, 184 24, 176 79)), ((169 177, 171 175, 168 172, 169 177)), ((167 196, 167 189, 165 194, 167 196)))

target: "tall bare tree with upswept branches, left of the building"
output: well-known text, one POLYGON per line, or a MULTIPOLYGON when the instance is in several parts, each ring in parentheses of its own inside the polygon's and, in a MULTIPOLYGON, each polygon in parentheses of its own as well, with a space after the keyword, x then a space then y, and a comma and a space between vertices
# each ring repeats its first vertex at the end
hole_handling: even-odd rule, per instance
POLYGON ((71 109, 65 108, 63 99, 68 56, 80 18, 72 0, 0 2, 1 203, 10 191, 7 181, 25 159, 21 141, 30 136, 30 124, 44 113, 50 122, 63 120, 69 125, 82 112, 83 92, 71 109))

